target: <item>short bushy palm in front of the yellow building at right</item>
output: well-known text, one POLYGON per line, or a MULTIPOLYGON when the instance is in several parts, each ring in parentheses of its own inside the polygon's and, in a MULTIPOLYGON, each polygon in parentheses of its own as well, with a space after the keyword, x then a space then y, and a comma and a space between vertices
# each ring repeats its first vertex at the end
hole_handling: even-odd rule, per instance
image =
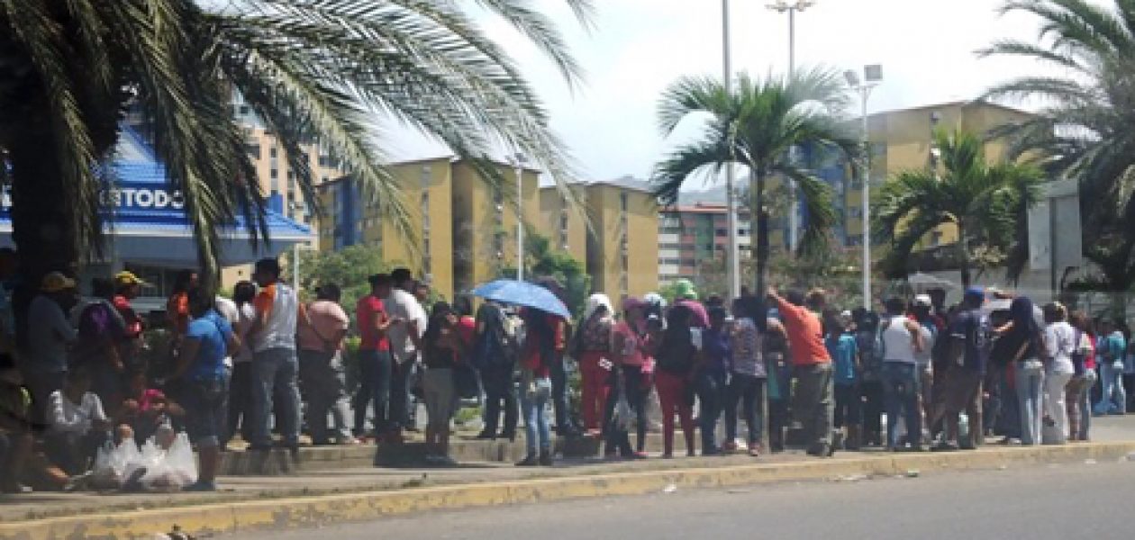
MULTIPOLYGON (((1040 171, 1028 164, 989 164, 984 142, 966 132, 934 133, 941 170, 908 170, 883 184, 872 209, 872 233, 889 243, 884 267, 906 268, 918 243, 942 225, 957 229, 962 286, 973 281, 977 255, 987 263, 1023 265, 1028 208, 1040 196, 1040 171)), ((1011 272, 1010 272, 1011 273, 1011 272)), ((1018 271, 1019 273, 1019 271, 1018 271)))

